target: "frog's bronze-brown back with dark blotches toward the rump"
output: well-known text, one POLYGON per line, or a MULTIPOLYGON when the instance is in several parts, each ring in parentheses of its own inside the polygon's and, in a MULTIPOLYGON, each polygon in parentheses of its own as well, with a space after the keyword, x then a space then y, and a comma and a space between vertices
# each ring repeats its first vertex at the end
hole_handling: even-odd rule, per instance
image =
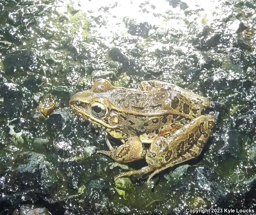
POLYGON ((184 95, 166 86, 149 91, 116 87, 99 96, 108 99, 116 111, 127 115, 180 115, 191 119, 201 115, 205 108, 197 100, 190 100, 189 94, 184 95))

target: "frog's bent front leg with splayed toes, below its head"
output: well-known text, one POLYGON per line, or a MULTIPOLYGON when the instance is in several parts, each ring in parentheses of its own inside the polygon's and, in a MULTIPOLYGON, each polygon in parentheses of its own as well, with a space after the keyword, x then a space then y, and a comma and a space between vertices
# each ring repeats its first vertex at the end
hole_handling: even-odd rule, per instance
POLYGON ((128 137, 125 144, 118 146, 116 149, 112 147, 107 138, 106 143, 110 151, 100 150, 97 153, 105 154, 116 162, 126 163, 140 160, 146 156, 146 148, 137 136, 128 137))

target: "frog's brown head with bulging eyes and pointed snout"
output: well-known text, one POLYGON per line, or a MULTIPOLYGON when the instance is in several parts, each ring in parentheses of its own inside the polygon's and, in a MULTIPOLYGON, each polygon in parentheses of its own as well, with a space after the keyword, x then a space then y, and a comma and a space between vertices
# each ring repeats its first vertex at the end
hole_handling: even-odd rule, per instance
POLYGON ((108 90, 111 88, 113 86, 109 81, 99 79, 90 90, 73 95, 69 100, 69 106, 93 124, 114 130, 120 123, 112 112, 112 104, 108 100, 108 90))

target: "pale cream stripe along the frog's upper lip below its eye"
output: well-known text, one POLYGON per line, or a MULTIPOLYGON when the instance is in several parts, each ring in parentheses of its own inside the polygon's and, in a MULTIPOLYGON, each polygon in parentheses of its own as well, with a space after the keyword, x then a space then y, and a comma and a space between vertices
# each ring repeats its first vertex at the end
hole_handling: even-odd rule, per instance
POLYGON ((97 118, 92 117, 92 115, 86 114, 87 113, 86 109, 82 106, 74 105, 74 102, 70 102, 69 106, 72 110, 74 110, 74 112, 76 114, 80 115, 81 117, 88 120, 89 122, 92 122, 93 124, 97 125, 98 127, 105 127, 108 129, 116 129, 116 126, 110 126, 107 123, 103 122, 102 120, 98 120, 97 118))

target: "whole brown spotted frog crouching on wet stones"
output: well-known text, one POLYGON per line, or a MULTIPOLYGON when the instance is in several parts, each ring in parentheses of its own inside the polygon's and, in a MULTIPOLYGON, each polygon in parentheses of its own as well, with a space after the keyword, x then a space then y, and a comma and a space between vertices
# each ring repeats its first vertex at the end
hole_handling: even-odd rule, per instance
POLYGON ((151 173, 149 182, 164 169, 198 157, 215 124, 213 115, 204 114, 210 106, 208 98, 157 80, 125 88, 98 79, 90 90, 73 95, 69 106, 121 141, 121 145, 113 147, 106 137, 109 151, 97 153, 118 163, 146 160, 148 166, 120 173, 115 180, 151 173))

